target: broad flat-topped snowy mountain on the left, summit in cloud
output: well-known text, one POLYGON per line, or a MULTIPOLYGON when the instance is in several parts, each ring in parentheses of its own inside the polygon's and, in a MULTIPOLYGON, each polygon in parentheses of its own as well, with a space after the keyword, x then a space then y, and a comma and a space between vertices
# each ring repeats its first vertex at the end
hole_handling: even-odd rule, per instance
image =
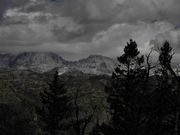
POLYGON ((55 67, 63 67, 64 60, 51 52, 26 52, 14 57, 10 67, 15 69, 28 69, 37 72, 47 72, 55 67))

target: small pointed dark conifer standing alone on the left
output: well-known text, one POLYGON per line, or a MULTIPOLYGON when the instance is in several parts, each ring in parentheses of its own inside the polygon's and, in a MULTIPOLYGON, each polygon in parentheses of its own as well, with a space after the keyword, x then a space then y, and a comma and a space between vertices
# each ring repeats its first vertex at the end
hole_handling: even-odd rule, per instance
POLYGON ((57 135, 65 128, 65 118, 69 109, 68 97, 63 81, 60 81, 58 72, 54 74, 49 89, 40 93, 42 108, 39 115, 43 121, 43 129, 50 135, 57 135))

